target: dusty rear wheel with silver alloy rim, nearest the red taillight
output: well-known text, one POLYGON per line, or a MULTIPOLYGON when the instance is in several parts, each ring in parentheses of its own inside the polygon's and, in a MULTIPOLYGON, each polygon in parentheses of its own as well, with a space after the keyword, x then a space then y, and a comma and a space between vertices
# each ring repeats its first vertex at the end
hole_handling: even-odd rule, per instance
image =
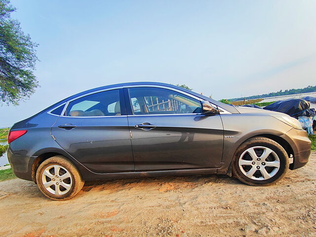
POLYGON ((75 197, 84 185, 76 166, 62 156, 44 160, 36 172, 36 181, 42 194, 52 200, 75 197))

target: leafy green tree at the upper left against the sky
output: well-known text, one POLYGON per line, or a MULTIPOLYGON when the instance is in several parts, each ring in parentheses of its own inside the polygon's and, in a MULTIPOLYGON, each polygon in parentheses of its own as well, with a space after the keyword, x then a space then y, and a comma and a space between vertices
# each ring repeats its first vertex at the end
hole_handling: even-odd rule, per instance
POLYGON ((9 0, 0 0, 0 101, 7 105, 18 105, 39 86, 33 74, 38 44, 23 33, 18 20, 11 19, 15 10, 9 0))

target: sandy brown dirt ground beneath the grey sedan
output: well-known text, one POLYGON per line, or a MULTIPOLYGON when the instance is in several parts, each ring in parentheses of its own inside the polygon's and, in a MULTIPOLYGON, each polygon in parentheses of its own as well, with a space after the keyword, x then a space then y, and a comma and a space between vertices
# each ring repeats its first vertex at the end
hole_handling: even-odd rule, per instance
POLYGON ((316 236, 316 153, 274 186, 203 175, 86 183, 51 201, 37 186, 0 182, 0 236, 316 236))

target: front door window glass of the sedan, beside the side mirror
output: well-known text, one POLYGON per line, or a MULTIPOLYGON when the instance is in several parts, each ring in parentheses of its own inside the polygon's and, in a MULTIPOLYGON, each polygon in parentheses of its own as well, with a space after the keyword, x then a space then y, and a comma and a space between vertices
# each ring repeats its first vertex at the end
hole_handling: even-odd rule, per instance
POLYGON ((196 114, 202 112, 199 100, 158 87, 129 88, 134 115, 196 114))

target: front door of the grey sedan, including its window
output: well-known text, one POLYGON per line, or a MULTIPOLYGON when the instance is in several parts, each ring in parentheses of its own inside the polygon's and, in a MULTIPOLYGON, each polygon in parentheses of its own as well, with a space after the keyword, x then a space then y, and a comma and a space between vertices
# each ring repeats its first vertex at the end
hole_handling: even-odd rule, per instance
POLYGON ((125 91, 136 171, 220 167, 223 124, 201 114, 197 98, 167 88, 125 91))

